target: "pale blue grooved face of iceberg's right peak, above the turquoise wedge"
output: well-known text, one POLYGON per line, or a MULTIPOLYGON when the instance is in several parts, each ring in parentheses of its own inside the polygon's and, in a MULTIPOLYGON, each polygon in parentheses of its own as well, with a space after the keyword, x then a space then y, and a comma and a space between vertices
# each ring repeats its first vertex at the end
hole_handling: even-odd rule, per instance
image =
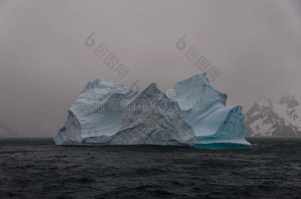
POLYGON ((174 90, 176 91, 175 100, 180 103, 187 100, 191 105, 193 100, 199 101, 197 110, 191 109, 191 106, 184 109, 196 136, 214 134, 230 110, 230 107, 225 107, 226 93, 214 89, 205 73, 176 83, 174 90))

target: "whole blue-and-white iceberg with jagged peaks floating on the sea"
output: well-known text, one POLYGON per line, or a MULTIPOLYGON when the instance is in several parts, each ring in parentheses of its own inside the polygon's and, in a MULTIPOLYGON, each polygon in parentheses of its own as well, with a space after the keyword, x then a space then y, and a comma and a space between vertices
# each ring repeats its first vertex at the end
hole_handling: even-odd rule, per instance
POLYGON ((175 84, 174 91, 176 96, 168 98, 154 83, 139 93, 102 79, 89 82, 54 141, 57 145, 249 144, 242 107, 226 106, 226 93, 215 90, 205 73, 175 84), (181 106, 183 102, 187 106, 181 106))

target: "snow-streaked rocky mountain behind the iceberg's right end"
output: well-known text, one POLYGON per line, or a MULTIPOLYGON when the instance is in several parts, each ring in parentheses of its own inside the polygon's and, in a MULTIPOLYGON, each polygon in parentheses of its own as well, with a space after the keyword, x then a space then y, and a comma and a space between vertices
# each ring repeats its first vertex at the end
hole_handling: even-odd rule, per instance
POLYGON ((245 116, 247 137, 301 137, 301 98, 296 95, 276 103, 263 97, 245 116))

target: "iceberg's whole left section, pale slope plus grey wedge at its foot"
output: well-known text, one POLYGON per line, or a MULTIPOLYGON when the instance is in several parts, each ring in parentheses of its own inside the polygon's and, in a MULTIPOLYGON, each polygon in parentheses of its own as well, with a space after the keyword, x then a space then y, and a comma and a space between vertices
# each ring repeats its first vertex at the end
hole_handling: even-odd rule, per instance
POLYGON ((121 128, 123 109, 109 108, 111 100, 120 105, 120 101, 131 101, 138 95, 123 84, 96 79, 82 90, 75 104, 69 110, 69 116, 54 138, 56 144, 80 144, 83 138, 112 136, 121 128), (92 102, 92 103, 91 103, 92 102))

